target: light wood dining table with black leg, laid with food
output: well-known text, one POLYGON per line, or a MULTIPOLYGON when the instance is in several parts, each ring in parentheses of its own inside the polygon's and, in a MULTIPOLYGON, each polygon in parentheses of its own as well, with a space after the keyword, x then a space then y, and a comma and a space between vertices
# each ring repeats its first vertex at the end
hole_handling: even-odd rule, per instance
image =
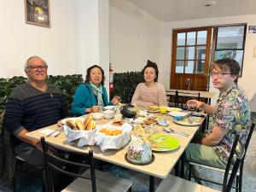
MULTIPOLYGON (((47 133, 50 131, 55 131, 59 128, 57 124, 49 125, 42 129, 38 129, 36 131, 31 131, 26 133, 27 137, 37 138, 45 137, 45 141, 54 144, 58 147, 73 150, 81 153, 88 153, 89 150, 93 150, 94 158, 102 161, 106 161, 108 163, 112 163, 113 165, 126 167, 133 171, 141 172, 149 176, 149 191, 153 192, 155 189, 154 186, 154 178, 166 178, 168 174, 172 171, 172 169, 177 165, 177 162, 183 156, 184 150, 189 145, 191 139, 194 137, 196 131, 199 130, 200 125, 179 125, 178 122, 175 123, 172 121, 172 117, 166 114, 154 113, 155 115, 160 115, 161 118, 166 119, 169 122, 165 128, 171 128, 176 132, 184 132, 187 133, 188 136, 180 136, 178 134, 166 133, 174 138, 176 138, 179 142, 179 147, 174 150, 169 151, 153 151, 154 161, 148 165, 140 166, 129 163, 125 160, 125 154, 128 150, 128 144, 119 149, 109 149, 107 151, 102 152, 101 148, 98 146, 84 146, 78 147, 72 143, 69 143, 67 137, 64 132, 58 134, 57 137, 49 136, 46 137, 47 133)), ((82 116, 84 118, 84 116, 82 116)), ((104 125, 108 124, 113 119, 99 119, 96 120, 96 125, 104 125)), ((132 131, 131 131, 132 132, 132 131)), ((154 125, 154 132, 164 132, 164 128, 160 125, 154 125)))

